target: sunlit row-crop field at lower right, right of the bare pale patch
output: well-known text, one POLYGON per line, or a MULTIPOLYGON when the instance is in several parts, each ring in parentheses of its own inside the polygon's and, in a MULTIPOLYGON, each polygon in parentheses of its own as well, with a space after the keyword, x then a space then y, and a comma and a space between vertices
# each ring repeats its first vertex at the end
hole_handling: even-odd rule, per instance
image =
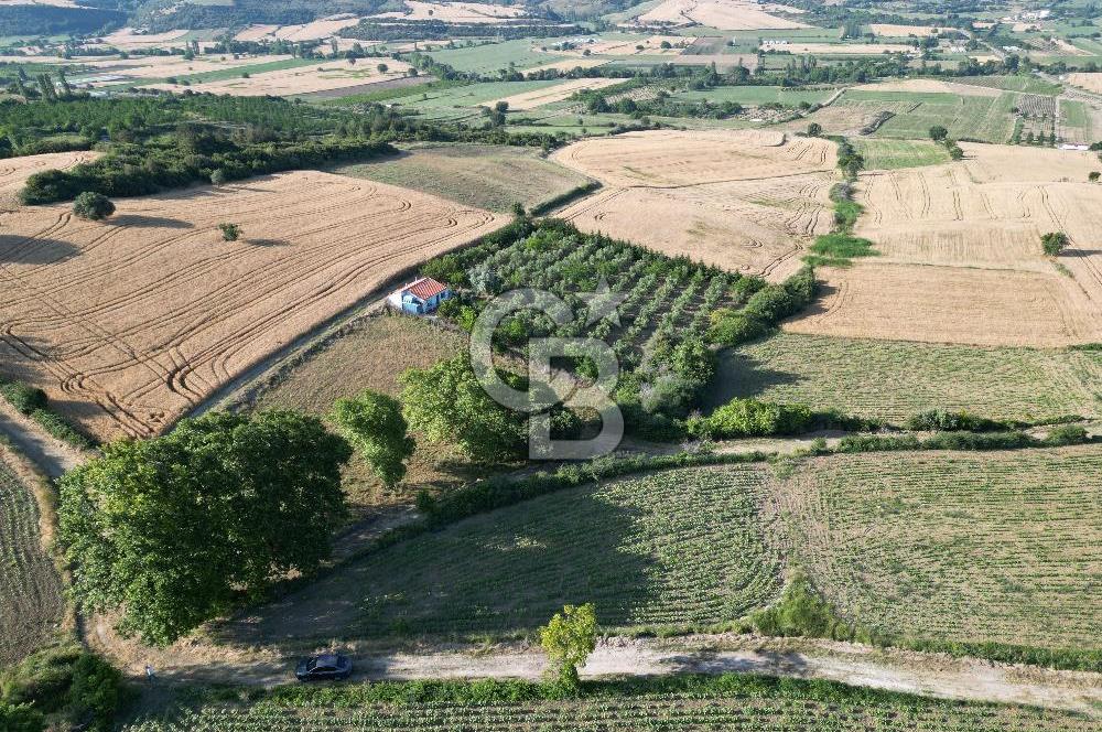
POLYGON ((894 636, 1102 649, 1102 450, 806 463, 778 515, 812 583, 894 636))

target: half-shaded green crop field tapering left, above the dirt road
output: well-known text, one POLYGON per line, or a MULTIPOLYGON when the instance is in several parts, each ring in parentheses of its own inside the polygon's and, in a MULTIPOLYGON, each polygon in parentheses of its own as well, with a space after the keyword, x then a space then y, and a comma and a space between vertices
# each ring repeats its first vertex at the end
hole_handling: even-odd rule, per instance
POLYGON ((780 592, 756 519, 765 474, 671 471, 474 517, 347 566, 219 637, 511 634, 583 601, 609 628, 734 620, 780 592))

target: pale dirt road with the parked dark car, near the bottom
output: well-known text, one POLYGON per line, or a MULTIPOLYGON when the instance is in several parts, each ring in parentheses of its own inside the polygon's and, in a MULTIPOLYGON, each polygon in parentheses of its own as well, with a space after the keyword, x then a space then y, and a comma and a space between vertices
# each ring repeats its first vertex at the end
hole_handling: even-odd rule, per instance
MULTIPOLYGON (((104 631, 102 627, 99 628, 104 631)), ((98 634, 97 634, 98 635, 98 634)), ((359 680, 541 678, 543 654, 527 644, 491 647, 436 646, 378 650, 338 646, 355 659, 359 680)), ((224 658, 186 659, 179 647, 149 658, 158 676, 174 681, 222 681, 252 686, 291 682, 299 655, 272 649, 224 649, 224 658), (233 654, 233 657, 229 657, 233 654), (158 665, 159 661, 169 664, 158 665)), ((306 655, 314 649, 302 649, 306 655)), ((126 668, 141 674, 145 658, 126 668)), ((1007 666, 974 658, 882 649, 857 644, 738 635, 680 638, 612 637, 601 642, 583 678, 727 671, 829 679, 855 686, 943 699, 1033 704, 1102 718, 1102 674, 1007 666)))

